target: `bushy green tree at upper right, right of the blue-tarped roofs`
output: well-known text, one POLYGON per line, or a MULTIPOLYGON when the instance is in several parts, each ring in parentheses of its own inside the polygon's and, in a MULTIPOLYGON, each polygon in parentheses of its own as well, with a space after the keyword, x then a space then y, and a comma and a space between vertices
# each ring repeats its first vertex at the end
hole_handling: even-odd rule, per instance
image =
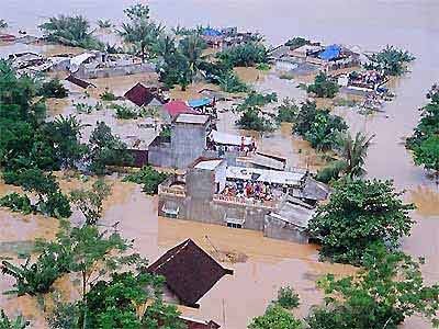
POLYGON ((386 76, 401 76, 406 70, 406 65, 416 59, 407 50, 394 46, 386 46, 380 53, 368 56, 370 64, 367 69, 383 71, 386 76))

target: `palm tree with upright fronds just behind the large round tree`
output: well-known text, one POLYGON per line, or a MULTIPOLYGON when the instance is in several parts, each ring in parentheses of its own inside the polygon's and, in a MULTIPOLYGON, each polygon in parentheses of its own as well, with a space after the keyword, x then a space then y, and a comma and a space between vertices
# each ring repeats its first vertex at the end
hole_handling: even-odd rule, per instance
POLYGON ((362 133, 357 133, 356 137, 347 133, 339 136, 338 154, 341 157, 339 168, 349 178, 361 177, 365 174, 363 169, 369 146, 375 135, 367 137, 362 133))

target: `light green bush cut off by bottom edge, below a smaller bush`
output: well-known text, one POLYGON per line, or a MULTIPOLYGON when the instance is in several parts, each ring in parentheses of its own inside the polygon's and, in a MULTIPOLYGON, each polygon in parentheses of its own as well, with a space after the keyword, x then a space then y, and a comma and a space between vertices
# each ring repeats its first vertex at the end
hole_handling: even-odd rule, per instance
POLYGON ((304 328, 300 320, 274 304, 270 305, 263 316, 256 317, 247 327, 248 329, 302 329, 304 328))

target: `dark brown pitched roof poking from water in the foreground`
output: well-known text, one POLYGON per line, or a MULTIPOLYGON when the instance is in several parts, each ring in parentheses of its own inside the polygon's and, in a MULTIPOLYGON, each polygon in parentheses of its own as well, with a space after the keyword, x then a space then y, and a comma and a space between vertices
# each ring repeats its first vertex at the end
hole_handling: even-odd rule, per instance
POLYGON ((168 250, 147 271, 164 275, 169 290, 190 307, 199 307, 196 302, 219 279, 233 274, 232 270, 224 269, 191 239, 168 250))

